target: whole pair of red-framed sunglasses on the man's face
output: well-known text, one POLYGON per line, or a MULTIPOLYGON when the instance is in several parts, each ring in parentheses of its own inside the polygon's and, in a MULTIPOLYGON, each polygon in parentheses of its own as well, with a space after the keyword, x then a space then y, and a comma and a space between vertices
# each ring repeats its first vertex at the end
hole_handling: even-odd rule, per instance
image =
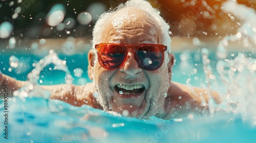
POLYGON ((162 44, 122 45, 100 43, 95 45, 99 64, 105 69, 117 69, 124 65, 127 53, 133 52, 139 67, 145 70, 158 69, 164 60, 167 46, 162 44))

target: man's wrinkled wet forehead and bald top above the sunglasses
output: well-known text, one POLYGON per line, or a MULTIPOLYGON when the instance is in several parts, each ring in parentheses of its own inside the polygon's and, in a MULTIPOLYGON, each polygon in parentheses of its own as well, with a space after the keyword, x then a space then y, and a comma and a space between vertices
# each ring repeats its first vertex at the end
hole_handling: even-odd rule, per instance
POLYGON ((111 16, 102 33, 102 42, 138 44, 160 42, 160 29, 148 12, 136 8, 121 9, 111 16))

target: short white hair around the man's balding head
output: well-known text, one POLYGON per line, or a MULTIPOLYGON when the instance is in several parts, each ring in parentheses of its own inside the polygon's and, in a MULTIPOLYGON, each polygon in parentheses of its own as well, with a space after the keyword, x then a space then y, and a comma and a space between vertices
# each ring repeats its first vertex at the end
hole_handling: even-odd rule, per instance
MULTIPOLYGON (((97 20, 94 29, 93 29, 93 41, 92 41, 92 48, 94 49, 95 44, 98 44, 102 40, 102 34, 103 30, 102 28, 105 27, 106 21, 110 19, 113 13, 118 12, 120 9, 123 8, 138 8, 140 10, 144 10, 145 12, 148 12, 152 17, 154 17, 156 23, 159 26, 159 29, 161 30, 161 39, 162 41, 159 41, 161 43, 167 46, 167 51, 170 53, 170 42, 172 41, 169 36, 169 25, 164 21, 164 19, 160 16, 160 11, 158 9, 155 9, 151 6, 151 4, 144 0, 130 0, 127 1, 124 4, 120 4, 118 7, 114 9, 114 11, 108 11, 100 15, 99 19, 97 20)), ((95 49, 94 49, 95 50, 95 49)), ((96 53, 96 50, 95 50, 96 53)), ((167 55, 166 55, 167 56, 167 55)), ((168 58, 166 58, 168 59, 168 58)))

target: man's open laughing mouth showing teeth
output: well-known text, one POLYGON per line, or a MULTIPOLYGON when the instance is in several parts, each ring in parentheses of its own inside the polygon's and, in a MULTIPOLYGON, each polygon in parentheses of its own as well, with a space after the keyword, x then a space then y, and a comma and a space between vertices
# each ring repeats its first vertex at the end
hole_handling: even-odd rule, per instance
POLYGON ((130 95, 130 94, 139 94, 145 90, 144 85, 136 84, 136 85, 124 85, 117 84, 115 86, 116 91, 121 95, 130 95))

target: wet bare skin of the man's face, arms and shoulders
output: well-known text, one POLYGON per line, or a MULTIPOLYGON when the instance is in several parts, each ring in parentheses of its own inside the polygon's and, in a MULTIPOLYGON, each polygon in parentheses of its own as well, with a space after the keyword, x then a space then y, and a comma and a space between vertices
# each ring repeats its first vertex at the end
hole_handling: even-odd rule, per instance
MULTIPOLYGON (((121 9, 114 13, 109 21, 106 21, 106 26, 102 29, 101 41, 98 42, 124 45, 162 44, 160 28, 153 19, 151 15, 139 9, 121 9)), ((126 110, 129 114, 125 115, 129 116, 155 115, 169 119, 188 113, 207 112, 207 106, 201 102, 201 97, 206 102, 208 101, 207 91, 171 82, 174 55, 165 54, 164 58, 169 58, 168 62, 164 60, 157 70, 147 71, 138 66, 131 52, 122 67, 108 70, 100 66, 94 51, 90 50, 88 75, 93 83, 82 86, 62 84, 42 87, 51 91, 51 99, 62 100, 75 106, 87 104, 94 108, 121 114, 126 110), (120 94, 120 88, 117 87, 119 84, 142 85, 142 92, 120 94), (99 93, 99 101, 93 96, 94 93, 99 93), (164 97, 165 93, 167 97, 164 97)), ((0 74, 0 81, 2 86, 8 84, 10 87, 13 86, 13 89, 25 85, 25 82, 16 81, 2 74, 0 74)), ((0 92, 2 96, 3 91, 0 90, 0 92)), ((211 92, 211 96, 217 103, 220 103, 218 93, 211 92)))

